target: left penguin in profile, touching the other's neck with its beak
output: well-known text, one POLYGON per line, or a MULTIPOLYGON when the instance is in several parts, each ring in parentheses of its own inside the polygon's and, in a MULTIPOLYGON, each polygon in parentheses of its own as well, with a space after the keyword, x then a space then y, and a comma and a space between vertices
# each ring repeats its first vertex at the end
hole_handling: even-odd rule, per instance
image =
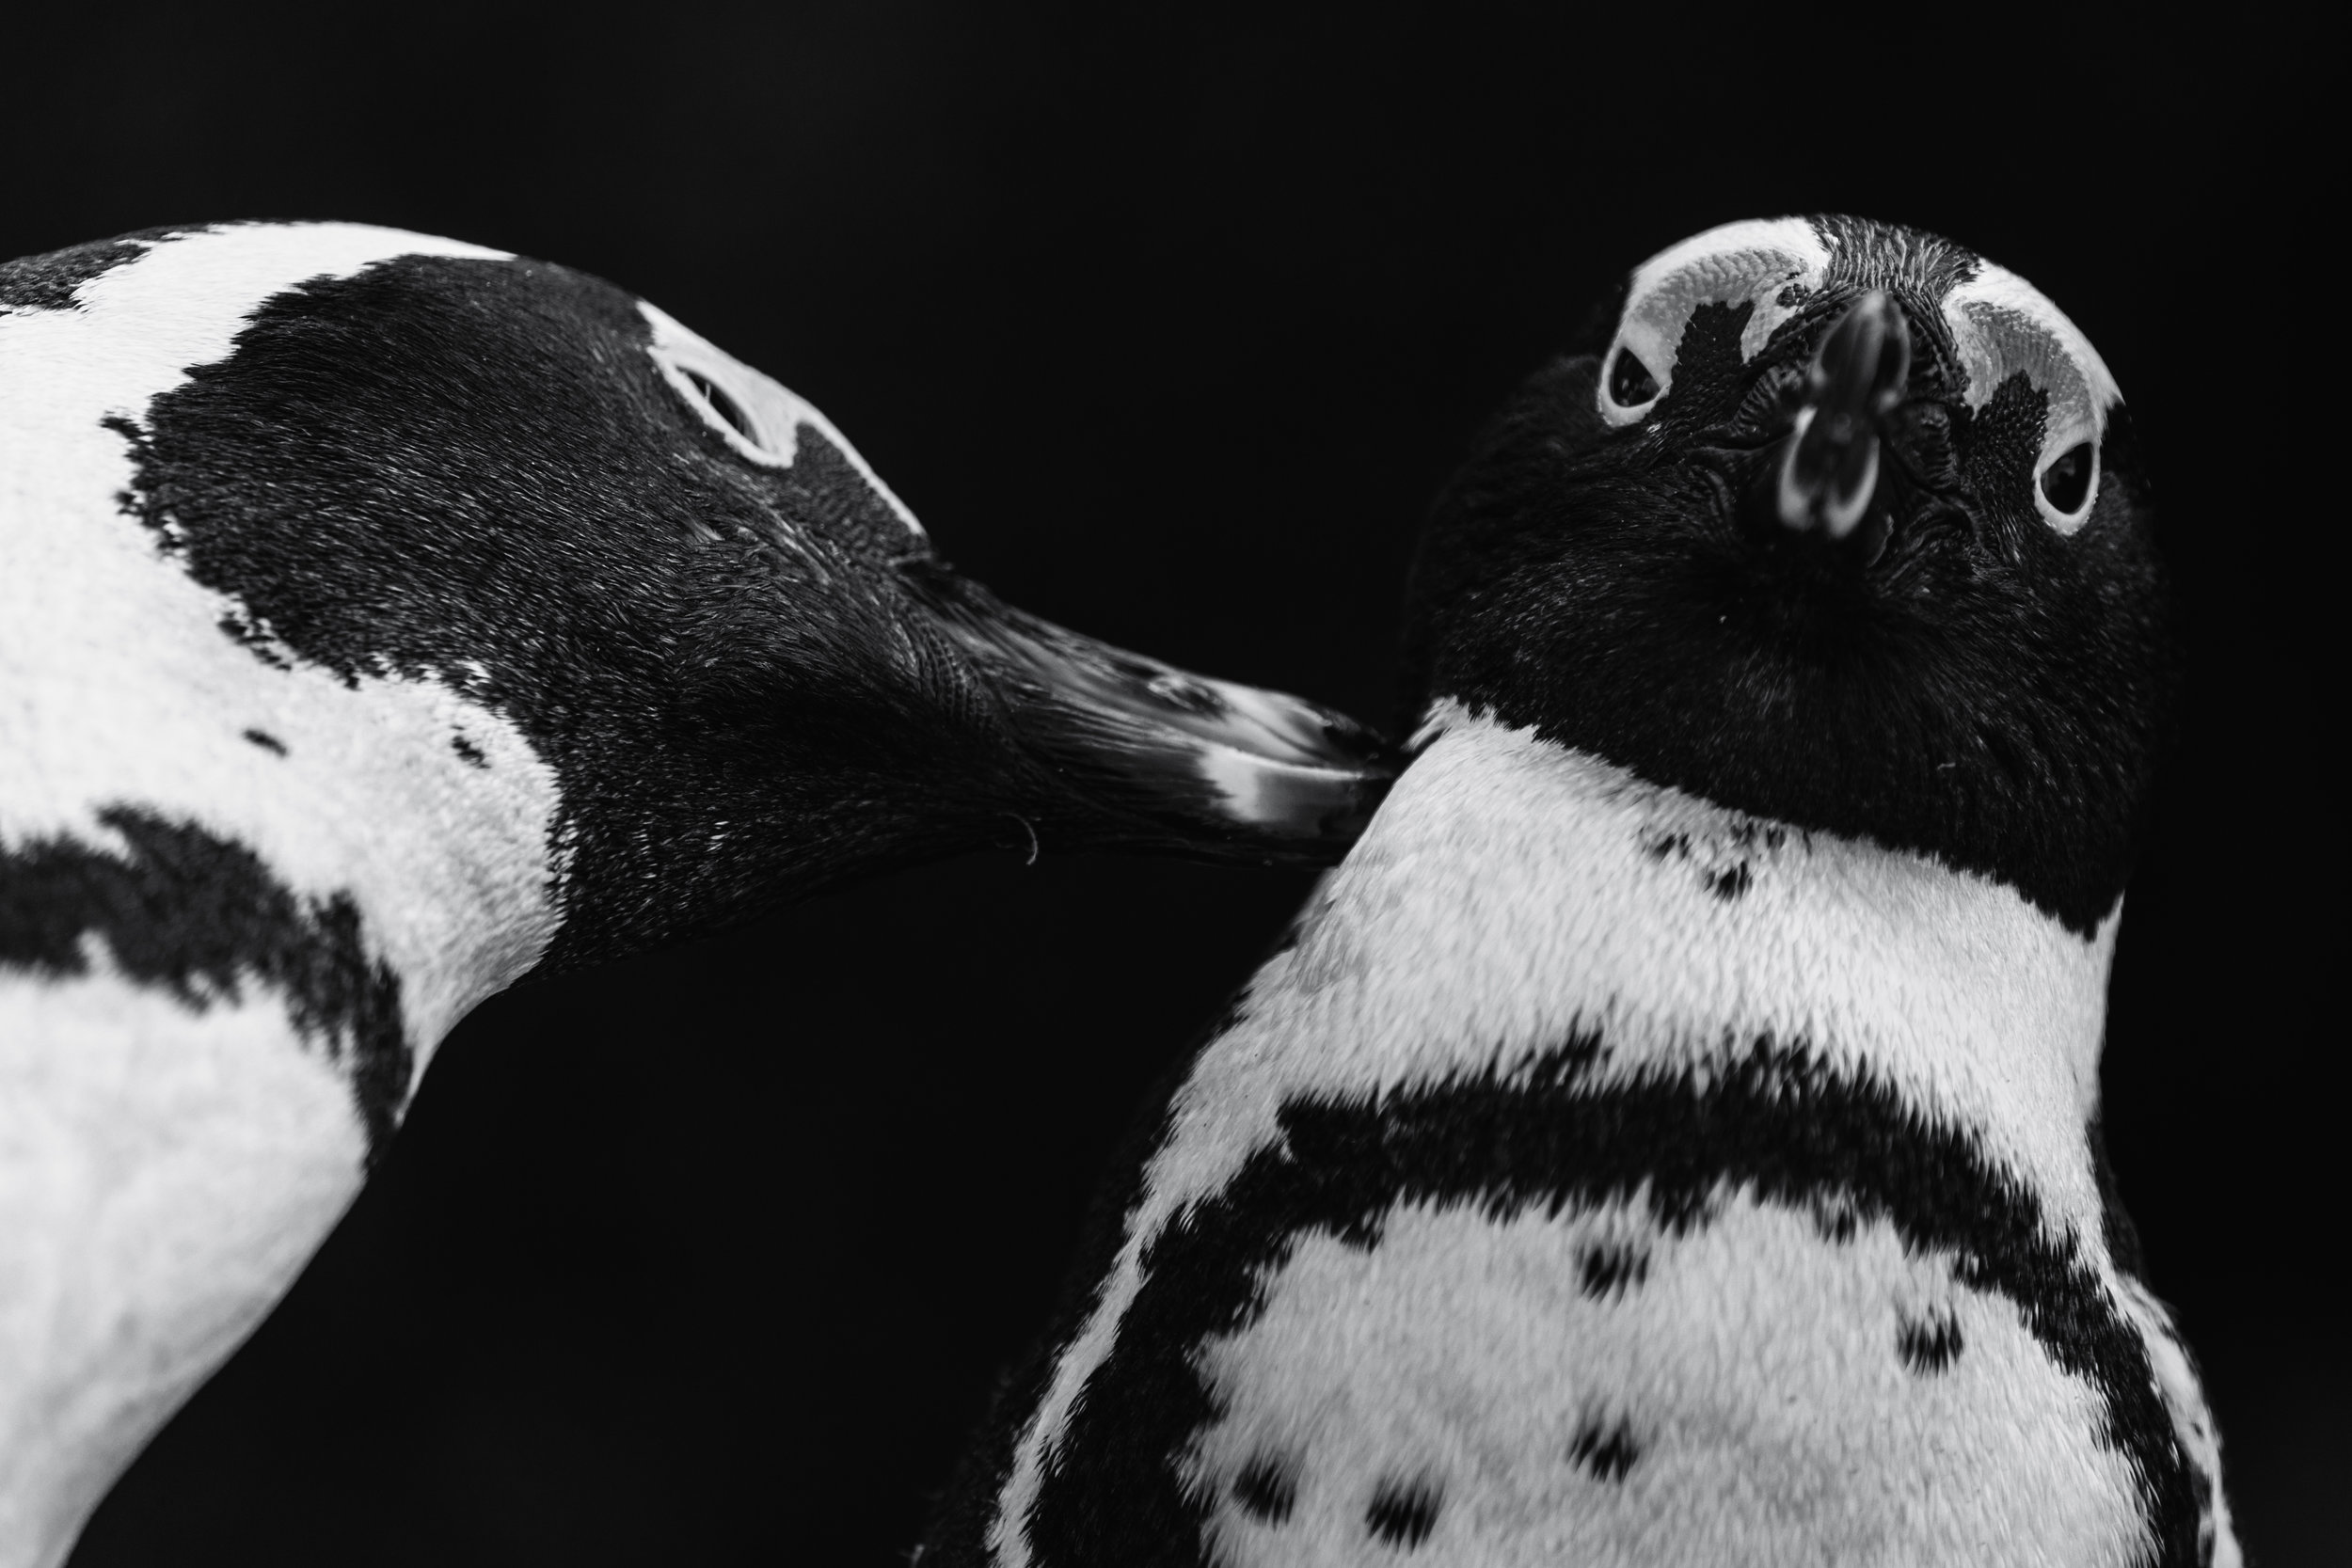
POLYGON ((1329 860, 1385 776, 997 604, 581 273, 355 226, 0 268, 0 1563, 517 976, 981 844, 1329 860))

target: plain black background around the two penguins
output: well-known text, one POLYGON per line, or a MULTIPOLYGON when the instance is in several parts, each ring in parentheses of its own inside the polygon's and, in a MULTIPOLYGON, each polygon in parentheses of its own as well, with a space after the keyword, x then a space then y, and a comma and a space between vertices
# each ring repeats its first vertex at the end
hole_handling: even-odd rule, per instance
MULTIPOLYGON (((1736 216, 1950 233, 2150 444, 2194 686, 2110 1140, 2258 1563, 2347 1462, 2343 268, 2312 38, 1926 7, 52 7, 0 254, 343 216, 630 287, 814 397, 1009 599, 1392 719, 1475 423, 1736 216), (2331 776, 2333 778, 2333 776, 2331 776)), ((903 1561, 1143 1086, 1305 879, 995 853, 485 1004, 75 1568, 903 1561)))

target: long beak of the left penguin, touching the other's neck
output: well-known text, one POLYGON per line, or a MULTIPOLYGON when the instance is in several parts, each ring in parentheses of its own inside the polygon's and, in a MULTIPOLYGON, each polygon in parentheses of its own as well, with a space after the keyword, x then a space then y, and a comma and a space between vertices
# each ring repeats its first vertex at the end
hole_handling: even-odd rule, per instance
POLYGON ((1355 719, 1080 637, 946 571, 922 597, 995 696, 1016 748, 1051 771, 1070 846, 1331 863, 1402 759, 1355 719), (1075 806, 1075 811, 1073 811, 1075 806))

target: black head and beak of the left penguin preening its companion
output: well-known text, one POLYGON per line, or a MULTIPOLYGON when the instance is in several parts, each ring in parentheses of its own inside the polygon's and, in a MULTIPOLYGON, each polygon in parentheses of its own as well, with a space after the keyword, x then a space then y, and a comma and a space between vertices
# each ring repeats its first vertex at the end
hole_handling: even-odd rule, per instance
POLYGON ((997 602, 814 407, 583 273, 233 226, 16 282, 71 310, 179 266, 141 296, 169 341, 174 301, 263 252, 226 353, 111 416, 120 503, 256 661, 440 682, 520 729, 560 790, 546 966, 983 844, 1331 860, 1385 788, 1336 712, 997 602))

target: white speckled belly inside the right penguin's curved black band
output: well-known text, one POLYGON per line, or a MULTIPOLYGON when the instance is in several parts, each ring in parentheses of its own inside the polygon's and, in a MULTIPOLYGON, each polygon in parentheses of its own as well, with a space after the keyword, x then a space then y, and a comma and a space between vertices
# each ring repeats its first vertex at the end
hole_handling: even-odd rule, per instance
POLYGON ((2100 1399, 1952 1269, 1750 1194, 1679 1237, 1642 1201, 1310 1232, 1200 1356, 1211 1561, 2122 1568, 2100 1399))

